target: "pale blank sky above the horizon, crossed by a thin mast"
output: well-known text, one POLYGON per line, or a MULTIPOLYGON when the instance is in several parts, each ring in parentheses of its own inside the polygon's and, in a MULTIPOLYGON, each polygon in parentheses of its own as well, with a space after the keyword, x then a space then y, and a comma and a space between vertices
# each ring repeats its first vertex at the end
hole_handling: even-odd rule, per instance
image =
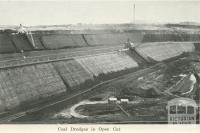
POLYGON ((200 23, 200 1, 0 1, 0 25, 200 23))

